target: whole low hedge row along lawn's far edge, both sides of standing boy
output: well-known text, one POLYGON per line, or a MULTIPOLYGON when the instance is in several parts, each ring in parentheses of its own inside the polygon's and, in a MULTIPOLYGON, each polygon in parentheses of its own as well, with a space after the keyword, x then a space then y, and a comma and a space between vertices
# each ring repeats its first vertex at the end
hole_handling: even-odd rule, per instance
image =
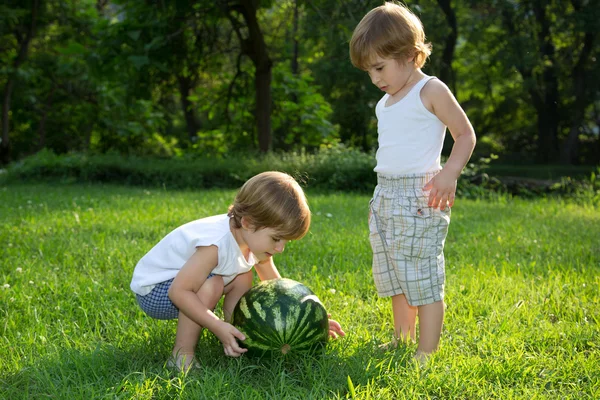
MULTIPOLYGON (((503 195, 543 197, 559 195, 600 203, 600 168, 589 179, 563 178, 555 184, 510 183, 486 173, 495 156, 465 168, 458 181, 458 198, 503 195)), ((248 178, 277 170, 294 176, 307 189, 371 193, 377 183, 375 156, 341 145, 324 146, 314 153, 289 152, 230 155, 222 158, 141 158, 117 154, 56 155, 43 150, 11 164, 0 179, 6 182, 103 182, 172 189, 239 188, 248 178)))

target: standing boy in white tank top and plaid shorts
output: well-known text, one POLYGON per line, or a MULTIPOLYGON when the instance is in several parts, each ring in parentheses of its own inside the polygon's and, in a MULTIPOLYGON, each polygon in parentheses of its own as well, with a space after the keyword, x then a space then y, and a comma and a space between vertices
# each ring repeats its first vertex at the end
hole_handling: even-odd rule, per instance
POLYGON ((415 358, 439 345, 444 320, 444 243, 456 181, 475 147, 469 119, 448 87, 425 75, 431 54, 421 21, 408 8, 386 2, 367 13, 350 41, 352 63, 385 92, 377 103, 377 186, 370 203, 373 278, 392 298, 394 338, 419 342, 415 358), (440 154, 448 127, 454 146, 440 154))

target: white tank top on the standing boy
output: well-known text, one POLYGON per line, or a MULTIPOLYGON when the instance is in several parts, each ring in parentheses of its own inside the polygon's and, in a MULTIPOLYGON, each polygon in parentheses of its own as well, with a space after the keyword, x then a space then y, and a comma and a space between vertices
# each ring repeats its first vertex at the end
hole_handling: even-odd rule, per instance
POLYGON ((446 126, 421 101, 421 89, 433 76, 425 76, 397 103, 385 106, 385 94, 375 107, 377 165, 374 171, 389 175, 437 172, 446 126))

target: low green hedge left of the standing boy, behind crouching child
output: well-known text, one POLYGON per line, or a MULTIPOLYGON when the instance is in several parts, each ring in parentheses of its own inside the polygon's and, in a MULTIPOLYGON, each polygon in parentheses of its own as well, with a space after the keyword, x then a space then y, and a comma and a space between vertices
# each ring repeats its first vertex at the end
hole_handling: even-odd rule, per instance
POLYGON ((43 150, 11 164, 3 179, 15 181, 105 182, 167 188, 238 188, 267 170, 287 172, 307 188, 370 191, 374 157, 341 146, 315 153, 270 153, 204 159, 157 159, 116 154, 56 155, 43 150))

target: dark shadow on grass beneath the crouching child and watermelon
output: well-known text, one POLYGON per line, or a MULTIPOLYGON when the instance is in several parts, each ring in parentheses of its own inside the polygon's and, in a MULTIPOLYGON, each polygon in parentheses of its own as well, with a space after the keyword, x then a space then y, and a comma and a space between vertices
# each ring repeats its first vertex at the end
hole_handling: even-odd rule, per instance
POLYGON ((56 356, 32 361, 16 373, 0 375, 3 388, 0 392, 13 400, 94 398, 110 394, 127 397, 139 391, 153 391, 152 388, 169 392, 179 387, 182 379, 193 382, 190 387, 210 390, 204 388, 215 387, 216 379, 241 392, 251 387, 254 393, 273 394, 277 383, 285 386, 286 391, 297 390, 299 394, 319 393, 329 397, 338 393, 343 397, 348 393, 348 377, 355 386, 366 385, 381 374, 382 365, 403 363, 405 359, 400 350, 383 353, 372 343, 352 347, 336 343, 313 356, 232 359, 223 354, 216 338, 202 337, 197 350, 200 368, 184 376, 166 367, 170 346, 168 340, 156 338, 129 348, 100 342, 91 351, 64 349, 56 356))

